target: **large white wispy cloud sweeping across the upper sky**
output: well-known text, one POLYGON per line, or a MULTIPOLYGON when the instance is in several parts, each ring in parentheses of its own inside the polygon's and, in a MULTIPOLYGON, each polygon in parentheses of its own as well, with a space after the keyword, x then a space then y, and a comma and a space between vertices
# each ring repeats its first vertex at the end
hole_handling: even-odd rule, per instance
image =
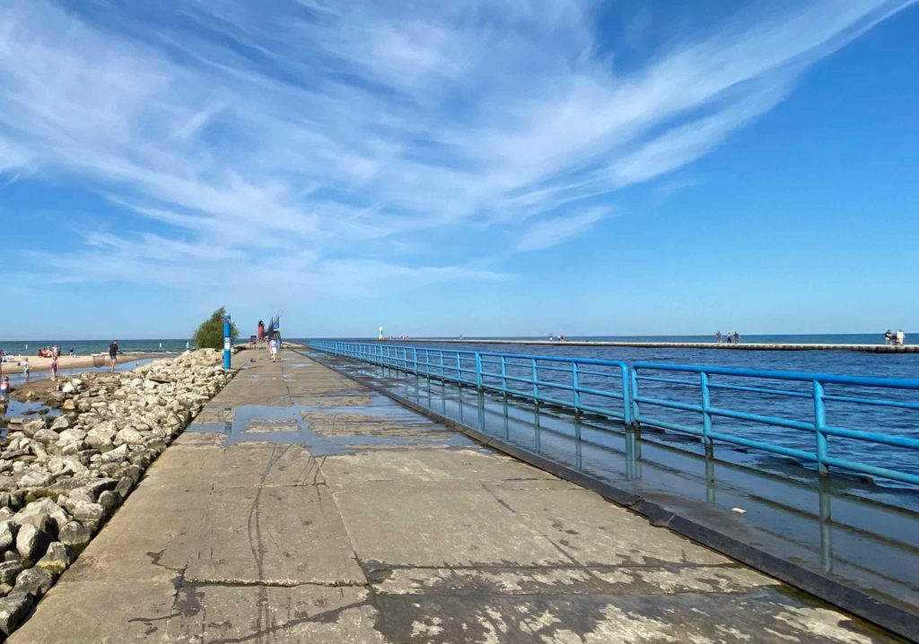
POLYGON ((157 224, 89 232, 68 279, 184 285, 215 260, 292 288, 503 278, 401 250, 470 221, 520 252, 573 239, 602 217, 585 199, 708 153, 909 4, 764 3, 623 71, 589 2, 9 0, 0 174, 78 177, 157 224))

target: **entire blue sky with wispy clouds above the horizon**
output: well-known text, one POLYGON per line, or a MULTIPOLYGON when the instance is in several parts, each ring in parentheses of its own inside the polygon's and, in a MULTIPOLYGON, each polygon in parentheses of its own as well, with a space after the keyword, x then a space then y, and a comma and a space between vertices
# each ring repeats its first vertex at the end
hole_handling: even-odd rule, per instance
POLYGON ((919 328, 916 33, 883 0, 6 0, 0 336, 919 328))

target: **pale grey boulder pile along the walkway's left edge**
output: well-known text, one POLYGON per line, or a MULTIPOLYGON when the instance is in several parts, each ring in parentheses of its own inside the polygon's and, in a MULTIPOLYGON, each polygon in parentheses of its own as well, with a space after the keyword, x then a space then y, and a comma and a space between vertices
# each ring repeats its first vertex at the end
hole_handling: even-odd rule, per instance
MULTIPOLYGON (((0 641, 232 376, 220 352, 85 373, 43 401, 57 416, 6 419, 0 442, 0 641)), ((3 420, 0 419, 0 423, 3 420)))

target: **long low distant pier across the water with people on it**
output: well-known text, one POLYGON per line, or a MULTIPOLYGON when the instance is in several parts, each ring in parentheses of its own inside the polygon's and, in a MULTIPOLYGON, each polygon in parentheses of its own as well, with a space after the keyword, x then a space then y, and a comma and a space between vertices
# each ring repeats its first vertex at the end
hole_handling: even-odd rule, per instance
POLYGON ((634 346, 647 349, 724 349, 735 351, 861 351, 870 354, 915 354, 919 345, 807 345, 714 342, 609 342, 604 340, 444 340, 438 338, 391 338, 384 342, 430 342, 457 345, 551 345, 551 346, 634 346))

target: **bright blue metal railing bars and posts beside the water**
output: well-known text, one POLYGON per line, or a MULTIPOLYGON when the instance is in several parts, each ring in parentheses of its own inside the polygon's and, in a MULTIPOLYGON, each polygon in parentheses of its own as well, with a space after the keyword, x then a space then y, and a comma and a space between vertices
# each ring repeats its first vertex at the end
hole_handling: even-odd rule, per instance
MULTIPOLYGON (((858 462, 850 458, 839 458, 830 454, 829 437, 838 436, 854 439, 874 445, 896 446, 919 451, 919 438, 910 435, 880 434, 879 432, 864 431, 849 427, 839 427, 827 422, 826 403, 843 402, 857 405, 871 405, 898 408, 909 411, 919 411, 919 401, 868 398, 858 395, 831 394, 825 390, 825 385, 846 385, 850 387, 879 388, 885 390, 919 390, 919 379, 913 378, 875 378, 841 376, 824 373, 807 373, 800 371, 773 371, 766 369, 747 369, 737 367, 714 367, 697 365, 671 365, 664 363, 636 362, 629 366, 622 360, 602 360, 596 358, 581 358, 575 356, 534 356, 528 354, 505 354, 491 351, 468 351, 436 346, 415 347, 410 345, 390 345, 385 343, 358 343, 348 341, 317 340, 310 343, 315 348, 327 348, 344 356, 357 357, 380 365, 396 367, 418 375, 441 378, 457 382, 460 385, 475 386, 480 390, 499 391, 505 396, 521 396, 537 403, 544 402, 573 409, 575 413, 595 412, 607 415, 610 418, 621 419, 630 429, 638 429, 641 425, 658 427, 688 435, 698 436, 707 453, 712 449, 715 441, 752 447, 765 452, 814 463, 821 474, 828 473, 828 467, 848 469, 870 476, 877 476, 889 480, 899 480, 919 486, 919 473, 907 470, 896 470, 879 465, 870 465, 868 462, 858 462), (455 358, 455 365, 448 366, 444 356, 455 358), (419 356, 423 356, 422 360, 419 356), (432 362, 432 356, 439 356, 439 362, 432 362), (463 364, 463 358, 468 361, 463 364), (485 359, 482 358, 491 358, 485 359), (471 361, 474 360, 474 365, 471 361), (568 365, 570 368, 554 367, 554 365, 568 365), (494 370, 488 366, 494 365, 494 370), (583 370, 580 366, 615 367, 610 371, 583 370), (508 370, 511 367, 512 370, 508 370), (539 377, 540 370, 543 378, 539 377), (698 382, 692 379, 676 377, 661 377, 648 374, 652 372, 678 372, 698 374, 698 382), (560 374, 560 381, 553 382, 545 379, 545 374, 560 374), (565 375, 570 379, 564 380, 565 375), (752 386, 745 383, 729 384, 730 381, 712 382, 709 376, 725 376, 731 378, 759 378, 773 381, 792 381, 809 383, 806 389, 782 390, 778 385, 766 387, 752 386), (591 377, 594 381, 582 383, 582 378, 591 377), (473 379, 474 378, 474 379, 473 379), (614 378, 611 389, 603 380, 596 378, 614 378), (597 384, 600 382, 601 384, 597 384), (679 385, 681 387, 698 390, 700 401, 685 401, 662 398, 652 394, 648 395, 639 390, 641 382, 656 382, 679 385), (511 383, 512 386, 508 386, 511 383), (573 401, 562 401, 555 397, 546 396, 542 390, 563 390, 572 393, 573 401), (729 409, 723 405, 712 404, 712 390, 736 390, 754 394, 771 396, 789 396, 793 399, 811 401, 809 412, 792 414, 797 417, 770 416, 762 413, 744 412, 729 409), (606 401, 584 401, 585 396, 594 396, 606 401), (615 407, 607 408, 611 401, 616 401, 615 407), (621 404, 619 403, 621 401, 621 404), (648 412, 645 406, 651 407, 648 412), (698 413, 701 416, 701 426, 686 424, 686 422, 673 415, 662 416, 653 410, 671 410, 673 412, 698 413), (734 421, 766 424, 781 427, 797 432, 811 432, 814 435, 815 445, 813 451, 800 449, 798 446, 779 445, 768 443, 738 435, 725 433, 720 427, 715 426, 716 419, 732 419, 734 421)), ((452 361, 451 361, 452 362, 452 361)), ((554 377, 553 377, 554 378, 554 377)), ((757 383, 758 384, 758 383, 757 383)), ((693 390, 689 390, 690 392, 693 390)), ((841 392, 845 393, 845 392, 841 392)), ((664 392, 664 396, 667 392, 664 392)), ((880 396, 880 393, 868 394, 880 396)), ((567 398, 568 395, 562 396, 567 398)), ((729 432, 732 430, 729 429, 729 432)), ((870 460, 870 459, 868 459, 870 460)), ((886 465, 886 463, 885 463, 886 465)))

